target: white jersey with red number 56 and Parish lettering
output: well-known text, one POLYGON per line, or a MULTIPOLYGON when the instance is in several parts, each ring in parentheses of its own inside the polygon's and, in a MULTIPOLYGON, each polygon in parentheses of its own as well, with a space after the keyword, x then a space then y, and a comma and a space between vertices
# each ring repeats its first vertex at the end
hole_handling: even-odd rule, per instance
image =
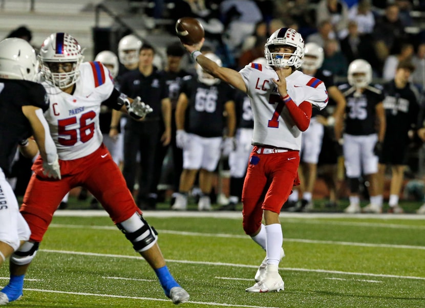
POLYGON ((61 160, 85 157, 99 148, 100 104, 114 90, 108 69, 99 62, 81 63, 79 71, 72 95, 42 82, 50 99, 45 117, 61 160))

